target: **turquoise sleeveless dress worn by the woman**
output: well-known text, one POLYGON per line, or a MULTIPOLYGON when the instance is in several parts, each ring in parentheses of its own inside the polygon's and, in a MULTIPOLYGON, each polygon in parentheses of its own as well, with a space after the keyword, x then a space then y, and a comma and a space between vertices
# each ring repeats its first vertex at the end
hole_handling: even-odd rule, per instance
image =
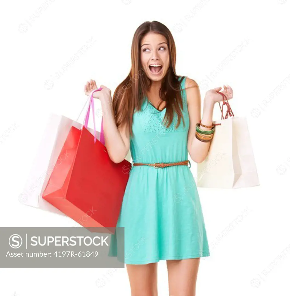
MULTIPOLYGON (((157 110, 145 97, 141 111, 133 115, 130 138, 133 163, 188 159, 186 77, 180 76, 179 80, 185 126, 181 119, 175 130, 175 114, 166 128, 162 124, 166 108, 157 110)), ((125 264, 210 256, 199 194, 189 166, 133 166, 129 174, 117 222, 117 227, 124 227, 125 236, 116 228, 108 256, 117 256, 125 264)))

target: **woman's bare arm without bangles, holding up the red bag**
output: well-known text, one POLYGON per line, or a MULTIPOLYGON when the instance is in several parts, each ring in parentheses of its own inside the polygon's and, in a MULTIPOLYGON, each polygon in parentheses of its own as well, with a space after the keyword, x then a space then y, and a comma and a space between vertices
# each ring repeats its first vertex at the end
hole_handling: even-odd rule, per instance
MULTIPOLYGON (((103 110, 104 139, 107 152, 114 163, 123 161, 130 149, 129 127, 126 125, 117 128, 112 106, 111 91, 101 85, 101 91, 96 91, 93 96, 101 101, 103 110)), ((96 82, 91 80, 85 86, 85 94, 90 94, 97 89, 96 82)))

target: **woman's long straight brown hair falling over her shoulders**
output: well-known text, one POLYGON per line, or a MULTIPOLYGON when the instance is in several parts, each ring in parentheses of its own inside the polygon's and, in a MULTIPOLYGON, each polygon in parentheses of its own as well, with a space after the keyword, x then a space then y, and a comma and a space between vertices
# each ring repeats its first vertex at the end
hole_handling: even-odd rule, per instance
MULTIPOLYGON (((179 126, 181 118, 184 118, 182 111, 183 102, 181 97, 181 81, 175 73, 176 49, 173 36, 169 29, 160 22, 144 22, 141 24, 133 36, 131 48, 131 70, 129 75, 117 86, 113 95, 113 110, 117 127, 127 123, 129 125, 130 135, 132 135, 133 114, 141 110, 142 100, 150 89, 152 81, 144 75, 144 69, 141 65, 140 49, 141 40, 148 33, 154 32, 164 36, 168 42, 170 64, 165 77, 161 82, 159 96, 166 102, 166 113, 164 121, 169 127, 173 121, 174 112, 177 113, 179 126)), ((161 101, 161 103, 162 103, 161 101)), ((161 105, 160 103, 160 105, 161 105)), ((158 106, 159 108, 159 106, 158 106)))

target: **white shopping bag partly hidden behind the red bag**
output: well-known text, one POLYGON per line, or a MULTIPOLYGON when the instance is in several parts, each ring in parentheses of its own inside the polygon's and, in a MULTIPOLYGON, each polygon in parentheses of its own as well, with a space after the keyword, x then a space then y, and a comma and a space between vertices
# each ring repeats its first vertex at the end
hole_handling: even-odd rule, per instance
MULTIPOLYGON (((88 102, 84 105, 83 109, 88 102)), ((75 121, 65 116, 53 113, 49 115, 36 156, 30 167, 24 189, 18 196, 19 202, 41 210, 65 215, 49 202, 42 199, 41 196, 48 183, 51 173, 60 163, 60 161, 57 160, 71 127, 75 126, 77 128, 81 128, 82 126, 81 123, 77 122, 77 120, 75 121)), ((92 134, 94 133, 92 128, 88 128, 88 130, 92 134)), ((99 139, 101 135, 99 132, 96 133, 99 139)), ((62 156, 62 159, 64 158, 65 155, 62 156)))

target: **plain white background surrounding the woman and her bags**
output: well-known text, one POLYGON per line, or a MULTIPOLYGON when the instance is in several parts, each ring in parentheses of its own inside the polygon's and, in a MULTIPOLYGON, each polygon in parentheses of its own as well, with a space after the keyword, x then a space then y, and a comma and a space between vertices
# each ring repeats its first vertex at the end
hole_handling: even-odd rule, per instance
MULTIPOLYGON (((211 256, 201 260, 196 295, 290 295, 290 0, 46 3, 6 1, 0 12, 0 226, 75 225, 17 198, 47 117, 55 112, 76 118, 90 78, 113 92, 129 73, 136 28, 158 20, 175 39, 177 74, 196 80, 202 98, 207 89, 233 88, 231 107, 247 117, 260 179, 260 186, 246 189, 199 189, 211 256), (93 45, 68 65, 92 38, 93 45), (13 132, 5 133, 9 128, 13 132), (231 223, 235 228, 226 231, 231 223)), ((214 120, 219 118, 216 105, 214 120)), ((196 164, 192 172, 196 176, 196 164)), ((130 295, 125 268, 0 272, 3 296, 130 295)), ((167 287, 166 262, 160 261, 159 295, 168 295, 167 287)))

